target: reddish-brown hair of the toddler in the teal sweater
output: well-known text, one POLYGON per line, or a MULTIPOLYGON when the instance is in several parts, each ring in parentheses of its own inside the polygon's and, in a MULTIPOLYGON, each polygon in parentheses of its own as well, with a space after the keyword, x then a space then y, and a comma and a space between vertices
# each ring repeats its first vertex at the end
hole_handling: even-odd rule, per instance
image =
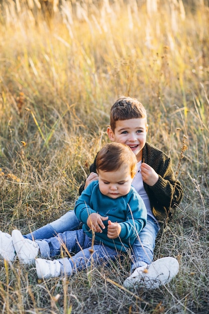
POLYGON ((111 172, 117 171, 121 166, 128 165, 133 179, 137 170, 135 154, 129 146, 122 143, 108 143, 98 152, 96 158, 96 170, 111 172))

